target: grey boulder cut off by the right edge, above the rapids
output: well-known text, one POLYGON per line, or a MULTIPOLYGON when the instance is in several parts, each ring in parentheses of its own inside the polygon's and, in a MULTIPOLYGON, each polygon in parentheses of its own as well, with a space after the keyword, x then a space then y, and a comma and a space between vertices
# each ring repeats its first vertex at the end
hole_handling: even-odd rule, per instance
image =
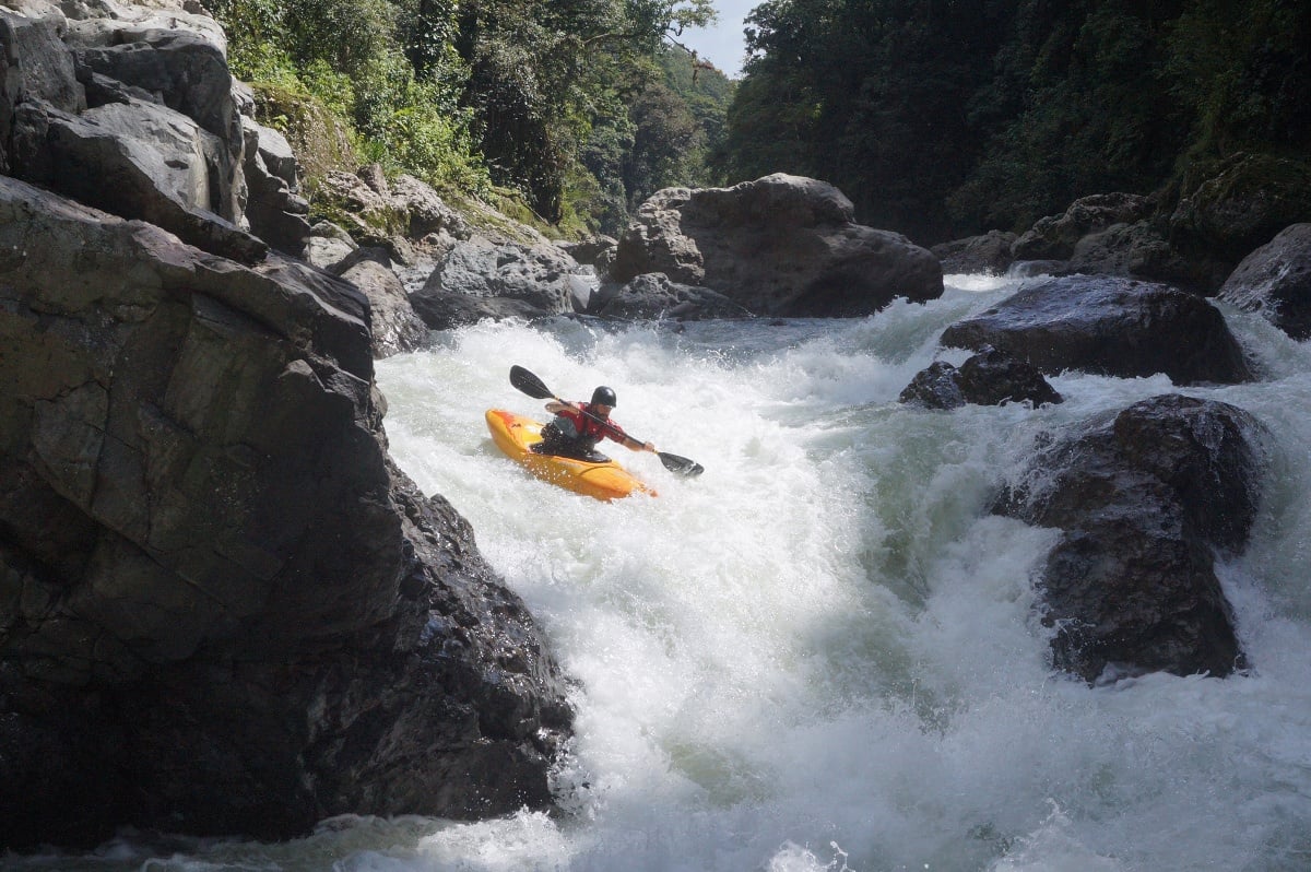
POLYGON ((1311 338, 1311 224, 1293 224, 1248 254, 1219 299, 1261 312, 1293 338, 1311 338))

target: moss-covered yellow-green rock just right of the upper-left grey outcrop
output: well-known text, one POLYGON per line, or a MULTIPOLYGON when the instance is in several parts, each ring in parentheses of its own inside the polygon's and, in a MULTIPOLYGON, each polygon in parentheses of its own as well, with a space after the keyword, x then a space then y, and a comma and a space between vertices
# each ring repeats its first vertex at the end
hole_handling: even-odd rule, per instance
POLYGON ((281 85, 254 83, 256 119, 287 138, 307 180, 362 163, 350 129, 317 98, 281 85))

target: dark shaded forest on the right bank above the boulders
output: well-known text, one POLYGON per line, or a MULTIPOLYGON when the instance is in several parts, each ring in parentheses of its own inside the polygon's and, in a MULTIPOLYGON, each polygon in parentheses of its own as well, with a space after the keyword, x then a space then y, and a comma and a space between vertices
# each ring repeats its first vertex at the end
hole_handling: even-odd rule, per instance
POLYGON ((1311 146, 1302 0, 767 0, 717 156, 920 241, 1311 146))

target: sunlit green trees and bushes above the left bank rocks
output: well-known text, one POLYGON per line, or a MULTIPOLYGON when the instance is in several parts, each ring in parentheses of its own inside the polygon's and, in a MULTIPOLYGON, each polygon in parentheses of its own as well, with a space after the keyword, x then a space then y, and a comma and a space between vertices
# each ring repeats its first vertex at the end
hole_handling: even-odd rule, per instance
POLYGON ((235 73, 347 122, 361 157, 614 232, 708 180, 730 83, 671 41, 709 0, 219 0, 235 73))

